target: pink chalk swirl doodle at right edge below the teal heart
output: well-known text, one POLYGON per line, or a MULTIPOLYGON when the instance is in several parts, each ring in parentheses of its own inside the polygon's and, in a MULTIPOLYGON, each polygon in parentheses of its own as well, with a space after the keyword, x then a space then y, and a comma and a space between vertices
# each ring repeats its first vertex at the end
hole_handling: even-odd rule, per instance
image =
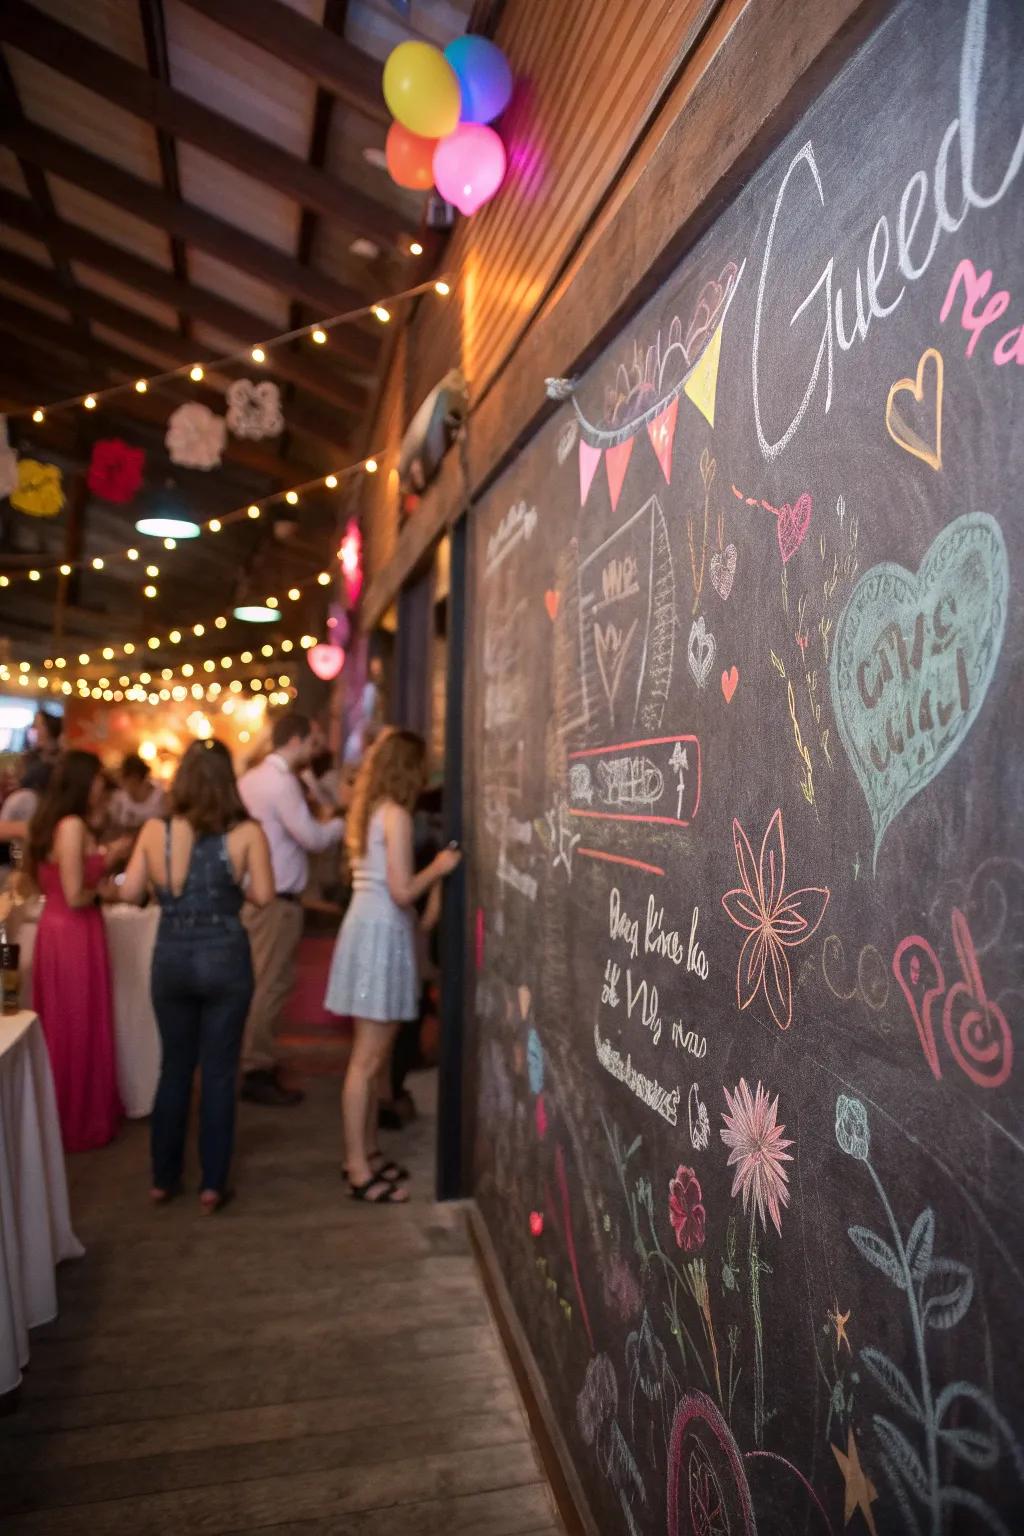
POLYGON ((975 940, 958 906, 952 909, 950 926, 960 980, 949 991, 943 962, 920 934, 900 940, 892 971, 933 1077, 943 1075, 932 1017, 941 1001, 943 1032, 956 1066, 978 1087, 1001 1087, 1013 1066, 1013 1034, 999 1005, 986 995, 975 940))

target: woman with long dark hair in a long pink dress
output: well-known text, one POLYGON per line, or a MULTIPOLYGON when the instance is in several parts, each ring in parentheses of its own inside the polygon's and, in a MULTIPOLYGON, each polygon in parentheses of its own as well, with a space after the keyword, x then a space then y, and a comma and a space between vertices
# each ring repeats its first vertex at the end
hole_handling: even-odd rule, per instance
POLYGON ((89 820, 106 796, 100 759, 66 753, 29 823, 29 872, 46 897, 32 1003, 49 1048, 68 1152, 106 1146, 121 1120, 106 929, 97 886, 107 854, 89 820))

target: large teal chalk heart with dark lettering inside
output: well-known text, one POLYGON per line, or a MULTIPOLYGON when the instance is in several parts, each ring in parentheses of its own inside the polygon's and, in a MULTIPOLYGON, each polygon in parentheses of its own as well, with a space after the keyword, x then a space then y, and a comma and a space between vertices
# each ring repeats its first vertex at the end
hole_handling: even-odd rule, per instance
POLYGON ((875 833, 946 766, 984 703, 1006 628, 1003 531, 964 513, 933 541, 913 576, 866 571, 832 650, 832 705, 875 833))

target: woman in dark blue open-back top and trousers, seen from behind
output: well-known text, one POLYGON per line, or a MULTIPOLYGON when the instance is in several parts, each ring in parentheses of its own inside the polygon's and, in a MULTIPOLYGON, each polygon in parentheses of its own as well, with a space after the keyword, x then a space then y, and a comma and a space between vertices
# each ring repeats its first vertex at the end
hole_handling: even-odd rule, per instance
POLYGON ((164 1204, 181 1186, 198 1063, 204 1215, 229 1195, 238 1054, 253 992, 249 935, 239 917, 243 883, 253 908, 273 900, 267 839, 246 816, 227 748, 193 742, 175 776, 169 819, 146 822, 140 833, 121 900, 141 902, 152 885, 161 906, 150 983, 161 1061, 149 1198, 164 1204))

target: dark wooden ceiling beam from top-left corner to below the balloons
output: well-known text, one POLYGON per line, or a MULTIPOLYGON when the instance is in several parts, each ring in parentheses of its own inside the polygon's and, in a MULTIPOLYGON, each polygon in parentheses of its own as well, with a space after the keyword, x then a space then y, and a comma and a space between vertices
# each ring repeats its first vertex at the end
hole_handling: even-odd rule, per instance
POLYGON ((201 101, 154 80, 144 69, 92 41, 84 32, 52 20, 28 5, 28 0, 3 0, 0 41, 31 54, 144 123, 187 140, 356 235, 398 243, 404 232, 401 212, 387 203, 378 203, 365 192, 345 186, 261 134, 253 134, 201 101))

